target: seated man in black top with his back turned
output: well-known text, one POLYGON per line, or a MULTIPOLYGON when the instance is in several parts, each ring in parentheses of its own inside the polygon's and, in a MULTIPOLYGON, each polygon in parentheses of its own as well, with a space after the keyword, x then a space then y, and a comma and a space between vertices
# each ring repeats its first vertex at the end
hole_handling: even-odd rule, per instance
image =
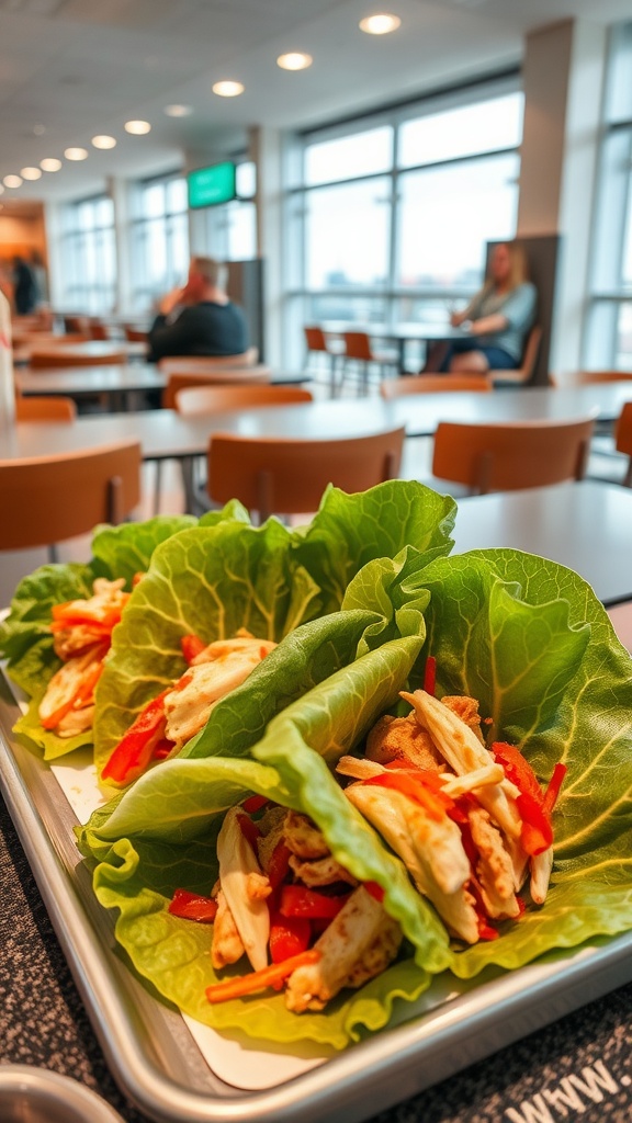
POLYGON ((150 363, 164 355, 241 355, 249 346, 244 313, 220 286, 222 266, 192 257, 184 289, 163 296, 148 335, 150 363))

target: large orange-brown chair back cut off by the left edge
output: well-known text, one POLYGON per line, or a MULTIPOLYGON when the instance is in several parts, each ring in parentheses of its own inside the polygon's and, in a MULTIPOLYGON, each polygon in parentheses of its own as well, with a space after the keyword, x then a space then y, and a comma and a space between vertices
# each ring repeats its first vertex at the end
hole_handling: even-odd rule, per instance
POLYGON ((123 522, 141 499, 141 445, 0 459, 0 549, 48 546, 123 522))

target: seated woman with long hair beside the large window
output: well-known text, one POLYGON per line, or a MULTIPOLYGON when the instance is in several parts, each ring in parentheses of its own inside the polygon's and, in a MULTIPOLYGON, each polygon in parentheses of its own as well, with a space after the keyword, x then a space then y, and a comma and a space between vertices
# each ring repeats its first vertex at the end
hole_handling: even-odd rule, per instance
MULTIPOLYGON (((535 286, 527 280, 523 247, 515 241, 499 243, 489 257, 482 289, 462 312, 450 317, 452 326, 462 327, 468 338, 448 346, 439 369, 516 369, 535 320, 536 300, 535 286)), ((426 369, 431 368, 428 364, 426 369)))

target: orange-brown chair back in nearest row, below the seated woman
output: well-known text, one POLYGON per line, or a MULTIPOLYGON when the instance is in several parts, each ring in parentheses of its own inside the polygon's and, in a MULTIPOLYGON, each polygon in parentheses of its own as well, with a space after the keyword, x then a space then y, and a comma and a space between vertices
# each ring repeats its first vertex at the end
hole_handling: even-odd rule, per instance
POLYGON ((593 426, 592 417, 503 424, 441 421, 432 472, 472 495, 581 480, 593 426))

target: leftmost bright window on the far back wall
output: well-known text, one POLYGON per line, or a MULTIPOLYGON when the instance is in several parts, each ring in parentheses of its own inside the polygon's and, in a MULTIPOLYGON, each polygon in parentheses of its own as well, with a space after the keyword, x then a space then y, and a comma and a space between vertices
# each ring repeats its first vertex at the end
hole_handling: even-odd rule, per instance
POLYGON ((107 195, 69 203, 62 212, 63 305, 106 316, 116 301, 114 203, 107 195))

